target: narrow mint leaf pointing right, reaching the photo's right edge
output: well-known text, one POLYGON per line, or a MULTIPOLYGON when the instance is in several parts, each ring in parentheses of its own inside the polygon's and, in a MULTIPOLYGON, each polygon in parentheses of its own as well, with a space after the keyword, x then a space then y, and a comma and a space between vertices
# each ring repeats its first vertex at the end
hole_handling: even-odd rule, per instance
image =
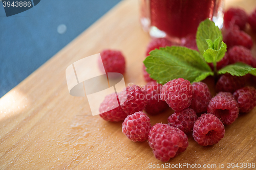
POLYGON ((256 76, 256 68, 253 68, 244 63, 234 63, 227 65, 218 71, 218 74, 225 74, 228 72, 232 76, 245 76, 245 74, 251 74, 256 76))

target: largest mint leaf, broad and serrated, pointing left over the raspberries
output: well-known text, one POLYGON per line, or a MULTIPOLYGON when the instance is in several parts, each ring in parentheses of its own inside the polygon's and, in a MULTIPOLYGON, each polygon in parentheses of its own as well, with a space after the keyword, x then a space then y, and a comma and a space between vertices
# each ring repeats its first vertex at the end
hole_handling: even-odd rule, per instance
POLYGON ((166 46, 153 50, 144 60, 144 64, 150 77, 160 84, 178 78, 195 82, 214 75, 197 51, 182 46, 166 46))

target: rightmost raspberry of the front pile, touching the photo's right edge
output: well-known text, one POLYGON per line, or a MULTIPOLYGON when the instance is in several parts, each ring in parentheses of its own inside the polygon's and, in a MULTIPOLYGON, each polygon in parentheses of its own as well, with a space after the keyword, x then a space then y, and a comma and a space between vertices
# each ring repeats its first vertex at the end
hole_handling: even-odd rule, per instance
POLYGON ((238 101, 241 113, 248 113, 256 106, 256 89, 254 87, 243 87, 234 92, 233 95, 238 101))

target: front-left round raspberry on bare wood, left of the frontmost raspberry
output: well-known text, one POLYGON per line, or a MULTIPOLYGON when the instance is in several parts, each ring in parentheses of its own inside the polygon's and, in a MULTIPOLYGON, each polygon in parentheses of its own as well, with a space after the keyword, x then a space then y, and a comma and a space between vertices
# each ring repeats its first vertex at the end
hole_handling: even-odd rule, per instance
POLYGON ((145 141, 150 133, 150 118, 143 112, 127 116, 122 124, 122 132, 130 140, 145 141))

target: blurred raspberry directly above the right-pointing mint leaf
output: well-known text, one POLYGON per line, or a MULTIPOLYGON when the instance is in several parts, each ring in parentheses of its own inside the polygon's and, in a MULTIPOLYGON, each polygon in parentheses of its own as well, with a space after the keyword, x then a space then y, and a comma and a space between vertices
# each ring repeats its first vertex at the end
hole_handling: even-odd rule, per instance
POLYGON ((233 46, 228 50, 229 63, 243 62, 252 65, 253 56, 251 51, 244 46, 233 46))

